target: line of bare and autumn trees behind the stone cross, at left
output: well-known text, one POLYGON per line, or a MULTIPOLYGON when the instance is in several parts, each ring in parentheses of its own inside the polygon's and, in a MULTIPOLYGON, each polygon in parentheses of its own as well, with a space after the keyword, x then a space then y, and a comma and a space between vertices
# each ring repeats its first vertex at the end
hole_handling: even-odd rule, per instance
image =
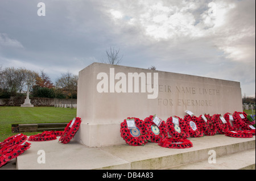
POLYGON ((43 98, 77 98, 78 75, 61 74, 53 83, 49 76, 41 70, 40 73, 26 68, 2 68, 0 66, 0 98, 30 95, 43 98))

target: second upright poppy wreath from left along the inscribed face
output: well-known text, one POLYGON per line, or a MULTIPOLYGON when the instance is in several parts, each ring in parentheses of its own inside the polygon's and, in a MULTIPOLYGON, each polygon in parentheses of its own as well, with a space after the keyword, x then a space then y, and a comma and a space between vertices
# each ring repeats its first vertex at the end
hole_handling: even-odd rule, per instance
POLYGON ((168 136, 168 130, 166 127, 166 123, 162 121, 159 127, 155 125, 153 122, 154 116, 149 116, 144 119, 144 124, 146 125, 146 138, 150 142, 160 142, 162 138, 168 136))

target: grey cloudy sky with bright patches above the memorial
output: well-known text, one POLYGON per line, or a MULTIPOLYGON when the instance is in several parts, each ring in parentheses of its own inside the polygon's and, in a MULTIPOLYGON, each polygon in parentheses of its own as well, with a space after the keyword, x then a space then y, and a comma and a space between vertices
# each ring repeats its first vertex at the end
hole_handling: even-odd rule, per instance
POLYGON ((254 0, 0 0, 2 68, 44 70, 55 82, 110 47, 119 65, 239 81, 255 95, 254 0))

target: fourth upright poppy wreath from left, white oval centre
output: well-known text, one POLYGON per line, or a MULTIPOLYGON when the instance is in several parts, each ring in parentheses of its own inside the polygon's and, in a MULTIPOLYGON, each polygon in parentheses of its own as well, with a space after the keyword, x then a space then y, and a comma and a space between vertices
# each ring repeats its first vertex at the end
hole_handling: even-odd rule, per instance
POLYGON ((190 116, 190 115, 186 115, 184 116, 183 121, 181 122, 183 124, 183 127, 185 127, 185 129, 187 129, 186 132, 189 133, 189 135, 191 137, 202 137, 203 132, 201 132, 196 125, 199 124, 198 123, 198 119, 196 116, 190 116))

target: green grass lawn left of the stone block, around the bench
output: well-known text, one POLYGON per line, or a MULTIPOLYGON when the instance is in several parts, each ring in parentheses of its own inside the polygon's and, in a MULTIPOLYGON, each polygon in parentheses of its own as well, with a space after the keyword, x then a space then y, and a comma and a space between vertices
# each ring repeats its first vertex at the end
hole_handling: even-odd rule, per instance
MULTIPOLYGON (((0 142, 18 133, 11 132, 11 124, 61 123, 76 117, 76 109, 55 107, 0 107, 0 142)), ((24 132, 27 136, 40 132, 24 132)))

